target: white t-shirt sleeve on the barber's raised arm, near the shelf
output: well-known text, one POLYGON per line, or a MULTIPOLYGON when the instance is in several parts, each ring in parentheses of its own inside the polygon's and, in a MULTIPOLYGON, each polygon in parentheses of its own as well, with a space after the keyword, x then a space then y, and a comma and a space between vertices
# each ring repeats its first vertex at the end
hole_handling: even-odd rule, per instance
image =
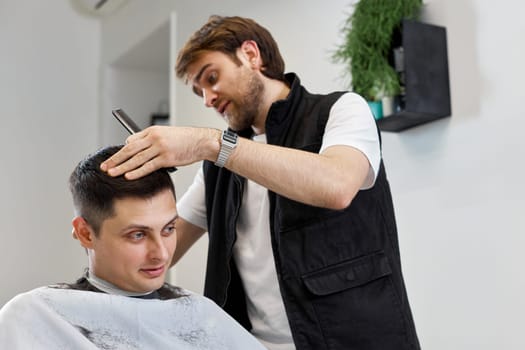
POLYGON ((368 104, 358 94, 342 95, 330 110, 320 153, 335 145, 354 147, 367 157, 370 168, 361 189, 374 186, 381 161, 379 135, 368 104))

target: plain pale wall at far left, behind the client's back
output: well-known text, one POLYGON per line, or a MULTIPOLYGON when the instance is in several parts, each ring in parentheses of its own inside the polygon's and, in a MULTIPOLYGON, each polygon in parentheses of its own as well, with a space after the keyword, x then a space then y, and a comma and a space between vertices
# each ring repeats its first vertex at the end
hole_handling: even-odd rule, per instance
POLYGON ((67 1, 0 1, 0 305, 85 266, 67 181, 97 145, 99 35, 67 1))

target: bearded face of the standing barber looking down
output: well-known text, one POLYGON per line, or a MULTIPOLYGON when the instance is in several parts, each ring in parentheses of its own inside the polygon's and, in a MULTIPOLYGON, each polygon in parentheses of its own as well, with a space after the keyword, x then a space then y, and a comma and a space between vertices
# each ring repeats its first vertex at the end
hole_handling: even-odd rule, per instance
POLYGON ((233 130, 246 129, 262 118, 264 85, 241 50, 239 66, 222 52, 210 51, 189 66, 188 80, 206 107, 215 110, 233 130))

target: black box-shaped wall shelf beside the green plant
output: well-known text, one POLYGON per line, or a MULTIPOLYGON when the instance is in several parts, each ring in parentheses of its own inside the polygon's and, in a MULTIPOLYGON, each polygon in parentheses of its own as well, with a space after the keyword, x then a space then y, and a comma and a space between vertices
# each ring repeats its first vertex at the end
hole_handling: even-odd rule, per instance
POLYGON ((377 121, 379 129, 397 132, 450 116, 446 29, 404 20, 393 38, 396 47, 403 48, 405 94, 397 111, 377 121))

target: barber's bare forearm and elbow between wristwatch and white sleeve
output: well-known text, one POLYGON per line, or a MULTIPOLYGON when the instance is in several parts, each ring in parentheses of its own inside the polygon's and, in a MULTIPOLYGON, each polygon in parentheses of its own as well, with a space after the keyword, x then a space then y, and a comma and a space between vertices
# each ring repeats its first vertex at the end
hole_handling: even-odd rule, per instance
POLYGON ((369 170, 366 156, 350 146, 321 154, 239 139, 226 163, 231 171, 290 199, 331 209, 346 208, 369 170))

